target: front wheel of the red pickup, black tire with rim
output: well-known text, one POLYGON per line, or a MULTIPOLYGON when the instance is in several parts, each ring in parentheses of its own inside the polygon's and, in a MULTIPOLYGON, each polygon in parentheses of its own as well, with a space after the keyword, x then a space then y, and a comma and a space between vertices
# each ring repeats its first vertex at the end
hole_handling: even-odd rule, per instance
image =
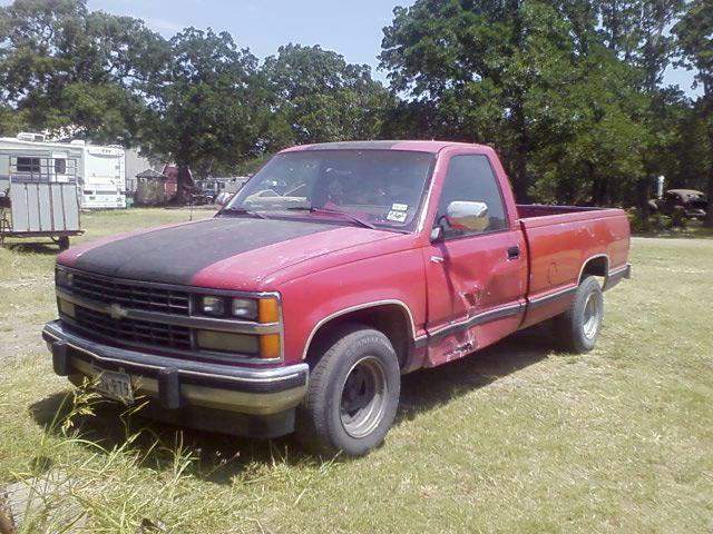
POLYGON ((297 408, 297 439, 322 456, 363 456, 381 445, 395 417, 397 354, 381 332, 360 325, 340 328, 323 347, 297 408))

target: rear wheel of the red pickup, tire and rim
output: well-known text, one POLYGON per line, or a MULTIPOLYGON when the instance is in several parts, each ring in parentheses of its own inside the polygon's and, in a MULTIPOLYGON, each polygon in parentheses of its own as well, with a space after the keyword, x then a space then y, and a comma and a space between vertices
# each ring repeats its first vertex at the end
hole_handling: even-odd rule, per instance
POLYGON ((588 353, 597 343, 603 318, 602 287, 594 276, 588 276, 579 284, 569 308, 555 317, 557 338, 570 353, 588 353))

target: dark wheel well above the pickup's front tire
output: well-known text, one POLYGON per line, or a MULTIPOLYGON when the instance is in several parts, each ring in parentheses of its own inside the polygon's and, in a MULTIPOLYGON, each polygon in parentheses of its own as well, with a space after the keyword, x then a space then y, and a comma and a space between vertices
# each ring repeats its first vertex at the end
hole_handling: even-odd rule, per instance
POLYGON ((328 320, 312 336, 307 347, 307 362, 315 362, 334 343, 332 335, 345 324, 360 324, 381 332, 389 338, 399 358, 399 366, 408 363, 413 346, 413 333, 408 312, 397 304, 378 305, 370 308, 349 312, 328 320))

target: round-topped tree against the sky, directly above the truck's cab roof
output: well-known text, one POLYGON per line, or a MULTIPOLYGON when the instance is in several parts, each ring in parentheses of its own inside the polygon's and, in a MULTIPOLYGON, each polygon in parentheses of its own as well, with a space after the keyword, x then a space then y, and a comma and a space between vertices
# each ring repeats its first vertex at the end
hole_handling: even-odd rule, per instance
POLYGON ((319 46, 287 44, 265 60, 263 72, 275 99, 276 148, 379 136, 390 97, 369 66, 319 46))

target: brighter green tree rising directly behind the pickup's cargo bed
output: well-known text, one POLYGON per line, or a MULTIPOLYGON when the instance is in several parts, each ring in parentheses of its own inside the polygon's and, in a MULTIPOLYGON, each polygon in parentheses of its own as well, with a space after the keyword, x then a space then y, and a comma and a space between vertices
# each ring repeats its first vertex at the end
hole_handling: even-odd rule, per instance
POLYGON ((638 117, 647 100, 632 87, 635 73, 600 44, 590 43, 579 67, 586 73, 560 102, 566 135, 553 130, 533 155, 534 197, 595 206, 635 200, 631 190, 644 175, 649 136, 638 117))

